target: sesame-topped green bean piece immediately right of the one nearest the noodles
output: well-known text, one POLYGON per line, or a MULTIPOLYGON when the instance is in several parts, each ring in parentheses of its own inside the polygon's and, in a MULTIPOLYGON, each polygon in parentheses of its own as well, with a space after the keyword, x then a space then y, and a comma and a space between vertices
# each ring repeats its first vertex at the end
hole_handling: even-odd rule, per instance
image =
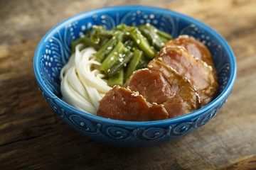
POLYGON ((114 74, 117 74, 117 72, 119 72, 119 70, 124 67, 124 64, 127 64, 127 62, 131 60, 133 52, 128 51, 127 54, 122 54, 121 56, 122 57, 119 57, 119 60, 117 60, 117 63, 110 68, 110 72, 108 72, 109 77, 112 77, 114 74))

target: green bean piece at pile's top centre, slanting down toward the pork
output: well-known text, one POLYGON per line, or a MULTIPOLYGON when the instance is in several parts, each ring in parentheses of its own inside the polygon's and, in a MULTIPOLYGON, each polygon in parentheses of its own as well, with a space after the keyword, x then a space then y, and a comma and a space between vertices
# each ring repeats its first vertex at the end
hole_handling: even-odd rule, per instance
POLYGON ((156 53, 154 52, 154 49, 149 45, 149 42, 136 27, 129 31, 129 37, 137 43, 139 49, 145 53, 148 59, 153 59, 155 57, 156 53))

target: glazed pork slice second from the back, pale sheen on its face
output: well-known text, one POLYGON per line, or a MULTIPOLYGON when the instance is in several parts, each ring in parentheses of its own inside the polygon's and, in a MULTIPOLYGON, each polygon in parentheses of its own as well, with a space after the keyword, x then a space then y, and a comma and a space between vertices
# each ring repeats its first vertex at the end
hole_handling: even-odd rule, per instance
POLYGON ((163 62, 191 81, 201 98, 201 105, 206 106, 218 93, 218 82, 213 76, 211 67, 197 60, 183 47, 163 47, 155 60, 163 62))

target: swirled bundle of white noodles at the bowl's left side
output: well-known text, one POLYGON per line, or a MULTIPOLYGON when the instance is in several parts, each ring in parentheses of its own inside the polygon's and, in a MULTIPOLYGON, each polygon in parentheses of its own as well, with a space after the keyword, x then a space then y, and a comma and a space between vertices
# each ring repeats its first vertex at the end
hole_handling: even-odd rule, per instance
POLYGON ((75 47, 68 63, 60 72, 60 91, 63 100, 71 106, 96 115, 100 100, 112 87, 107 86, 105 75, 100 73, 100 62, 95 58, 95 49, 75 47))

